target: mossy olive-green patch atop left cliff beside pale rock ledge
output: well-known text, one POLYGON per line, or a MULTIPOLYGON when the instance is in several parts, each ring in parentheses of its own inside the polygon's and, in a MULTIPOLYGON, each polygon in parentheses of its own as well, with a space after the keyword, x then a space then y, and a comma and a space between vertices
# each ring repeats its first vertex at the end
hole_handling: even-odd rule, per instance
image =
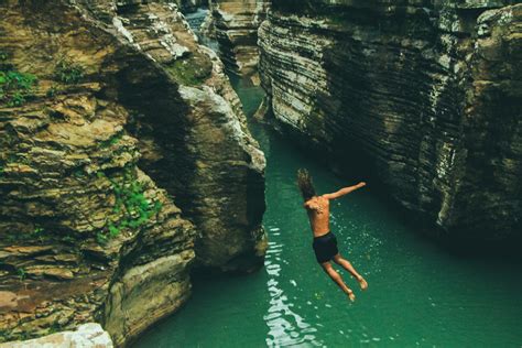
POLYGON ((177 83, 186 86, 202 85, 213 72, 213 62, 204 54, 195 53, 188 58, 176 59, 166 66, 177 83))

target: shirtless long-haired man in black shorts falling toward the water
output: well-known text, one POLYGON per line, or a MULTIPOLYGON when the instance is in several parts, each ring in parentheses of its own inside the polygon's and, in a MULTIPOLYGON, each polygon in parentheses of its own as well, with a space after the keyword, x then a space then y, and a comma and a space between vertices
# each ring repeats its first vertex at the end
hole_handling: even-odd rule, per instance
POLYGON ((339 285, 339 287, 350 297, 350 300, 355 301, 356 295, 354 295, 354 292, 348 286, 346 286, 342 278, 331 267, 330 261, 334 260, 335 263, 341 265, 345 270, 350 272, 350 274, 357 279, 362 290, 368 289, 368 283, 359 273, 357 273, 351 263, 344 259, 337 250, 337 239, 329 229, 329 200, 342 197, 344 195, 361 188, 362 186, 366 186, 366 183, 359 183, 355 186, 344 187, 331 194, 318 196, 315 193, 308 171, 298 170, 297 185, 305 200, 304 207, 306 213, 308 213, 309 224, 312 226, 312 231, 314 232, 313 247, 317 262, 319 262, 323 270, 331 278, 334 282, 336 282, 337 285, 339 285))

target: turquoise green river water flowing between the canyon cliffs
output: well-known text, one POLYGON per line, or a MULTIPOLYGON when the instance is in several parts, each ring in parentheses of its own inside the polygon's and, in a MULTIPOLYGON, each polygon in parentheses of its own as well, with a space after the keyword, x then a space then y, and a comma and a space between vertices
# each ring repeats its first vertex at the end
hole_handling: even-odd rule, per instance
MULTIPOLYGON (((238 80, 235 86, 251 115, 260 90, 238 80)), ((264 269, 195 280, 189 302, 135 348, 522 346, 520 261, 448 253, 405 226, 371 187, 331 207, 339 249, 370 285, 356 290, 351 304, 315 262, 294 176, 308 167, 320 192, 351 183, 251 126, 268 159, 264 269)))

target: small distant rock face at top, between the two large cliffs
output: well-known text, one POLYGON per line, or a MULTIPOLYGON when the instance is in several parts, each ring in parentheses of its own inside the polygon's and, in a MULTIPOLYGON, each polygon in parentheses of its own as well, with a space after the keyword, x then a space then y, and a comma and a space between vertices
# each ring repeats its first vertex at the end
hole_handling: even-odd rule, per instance
POLYGON ((259 62, 258 28, 265 19, 270 1, 211 0, 211 35, 219 43, 219 55, 228 70, 252 75, 259 62))

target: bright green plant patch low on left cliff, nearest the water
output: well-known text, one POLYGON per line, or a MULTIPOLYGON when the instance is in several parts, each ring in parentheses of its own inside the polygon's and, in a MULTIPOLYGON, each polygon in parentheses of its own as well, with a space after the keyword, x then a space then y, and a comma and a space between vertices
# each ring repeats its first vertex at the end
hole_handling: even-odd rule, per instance
MULTIPOLYGON (((102 172, 97 173, 98 177, 105 177, 102 172), (101 174, 100 174, 101 173, 101 174)), ((131 167, 126 167, 123 177, 120 180, 109 178, 111 188, 116 196, 116 204, 112 208, 115 214, 122 214, 118 221, 107 224, 107 229, 96 235, 96 240, 100 244, 107 243, 110 239, 120 235, 127 228, 137 229, 143 226, 155 214, 160 213, 162 204, 149 203, 144 196, 144 189, 135 177, 131 167)))

